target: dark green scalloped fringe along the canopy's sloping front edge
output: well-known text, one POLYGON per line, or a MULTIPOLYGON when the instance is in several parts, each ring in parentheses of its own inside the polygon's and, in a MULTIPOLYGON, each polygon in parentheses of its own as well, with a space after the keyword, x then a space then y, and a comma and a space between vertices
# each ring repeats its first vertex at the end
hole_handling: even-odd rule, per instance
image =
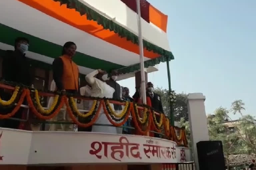
MULTIPOLYGON (((139 44, 138 36, 131 33, 130 31, 126 30, 125 28, 121 27, 120 25, 114 23, 112 20, 105 18, 104 16, 100 15, 96 11, 92 10, 91 8, 87 7, 85 4, 79 2, 78 0, 54 0, 60 2, 60 4, 67 4, 67 8, 75 9, 80 13, 80 15, 87 15, 88 20, 96 21, 99 25, 102 25, 104 29, 109 29, 110 31, 114 31, 118 33, 120 37, 126 37, 128 41, 133 42, 134 44, 139 44)), ((155 53, 158 53, 168 61, 174 59, 172 52, 167 51, 157 45, 154 45, 150 42, 143 40, 143 46, 146 47, 147 50, 153 50, 155 53)))

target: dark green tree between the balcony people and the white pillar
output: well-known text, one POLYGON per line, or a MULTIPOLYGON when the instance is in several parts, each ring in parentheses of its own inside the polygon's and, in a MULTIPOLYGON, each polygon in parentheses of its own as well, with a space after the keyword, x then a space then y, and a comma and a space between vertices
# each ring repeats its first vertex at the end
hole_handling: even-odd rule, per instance
MULTIPOLYGON (((170 97, 169 90, 163 88, 155 88, 155 93, 159 94, 162 99, 162 105, 164 113, 169 116, 170 113, 170 97)), ((176 103, 173 105, 173 114, 174 120, 179 122, 181 118, 184 118, 185 121, 188 121, 188 108, 187 108, 187 94, 180 93, 176 96, 176 103)))

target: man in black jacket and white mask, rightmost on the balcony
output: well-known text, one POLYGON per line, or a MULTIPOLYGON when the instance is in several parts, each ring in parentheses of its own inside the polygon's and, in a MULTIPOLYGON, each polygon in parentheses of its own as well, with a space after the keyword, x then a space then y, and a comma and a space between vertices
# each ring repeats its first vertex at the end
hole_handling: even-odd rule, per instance
MULTIPOLYGON (((146 95, 150 97, 152 108, 154 108, 156 112, 164 114, 161 97, 159 94, 154 93, 154 85, 151 82, 148 82, 146 89, 146 95)), ((156 116, 156 120, 159 121, 160 117, 156 116)), ((159 137, 159 134, 155 133, 155 137, 159 137)))

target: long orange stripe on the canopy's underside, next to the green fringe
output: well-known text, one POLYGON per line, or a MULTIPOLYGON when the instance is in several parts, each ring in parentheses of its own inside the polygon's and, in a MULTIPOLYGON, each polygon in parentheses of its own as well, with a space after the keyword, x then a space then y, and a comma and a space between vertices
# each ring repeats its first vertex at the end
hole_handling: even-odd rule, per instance
MULTIPOLYGON (((75 9, 67 8, 65 4, 60 6, 60 2, 55 2, 53 0, 18 1, 23 2, 24 4, 27 4, 77 29, 85 31, 92 36, 139 54, 139 46, 137 44, 127 41, 126 38, 119 37, 118 34, 114 33, 113 31, 105 30, 101 25, 98 25, 97 22, 87 20, 86 15, 81 16, 79 12, 75 11, 75 9)), ((144 56, 153 59, 160 55, 144 48, 144 56)))

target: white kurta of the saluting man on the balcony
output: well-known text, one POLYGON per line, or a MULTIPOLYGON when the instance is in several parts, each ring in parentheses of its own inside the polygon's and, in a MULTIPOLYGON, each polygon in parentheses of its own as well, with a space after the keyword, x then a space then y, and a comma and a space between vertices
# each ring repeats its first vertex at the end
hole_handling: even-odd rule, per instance
MULTIPOLYGON (((115 90, 107 85, 105 82, 95 78, 94 76, 98 74, 98 70, 93 71, 90 74, 87 74, 85 79, 92 86, 91 96, 92 97, 100 97, 100 98, 112 98, 115 90)), ((114 108, 113 104, 111 107, 114 108)), ((111 125, 108 121, 106 115, 104 114, 103 108, 100 110, 99 117, 95 124, 105 124, 111 125)), ((116 127, 108 127, 108 126, 92 126, 93 132, 105 132, 105 133, 117 133, 116 127)))

